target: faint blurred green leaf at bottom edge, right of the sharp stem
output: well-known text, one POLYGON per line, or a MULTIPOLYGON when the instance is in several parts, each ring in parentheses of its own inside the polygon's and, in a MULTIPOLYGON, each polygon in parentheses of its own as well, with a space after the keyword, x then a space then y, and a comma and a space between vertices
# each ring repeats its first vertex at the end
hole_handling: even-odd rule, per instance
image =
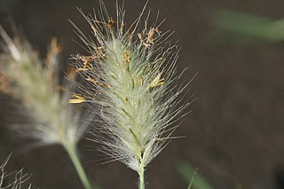
POLYGON ((179 162, 177 170, 189 183, 188 189, 213 189, 204 177, 196 173, 196 169, 188 161, 179 162))

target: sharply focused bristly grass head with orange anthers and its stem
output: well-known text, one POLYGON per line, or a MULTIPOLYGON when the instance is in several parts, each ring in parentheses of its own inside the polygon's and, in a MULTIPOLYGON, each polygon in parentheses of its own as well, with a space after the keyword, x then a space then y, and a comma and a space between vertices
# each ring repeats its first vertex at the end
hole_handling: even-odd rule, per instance
POLYGON ((171 33, 163 33, 161 24, 148 24, 149 14, 141 21, 145 9, 128 28, 117 2, 114 17, 102 1, 99 16, 81 11, 95 39, 74 24, 89 54, 73 56, 85 85, 78 84, 79 94, 69 101, 99 114, 93 140, 110 161, 122 161, 138 173, 140 189, 146 185, 146 167, 173 138, 173 123, 190 105, 181 103, 188 84, 177 85, 177 45, 171 45, 171 33))

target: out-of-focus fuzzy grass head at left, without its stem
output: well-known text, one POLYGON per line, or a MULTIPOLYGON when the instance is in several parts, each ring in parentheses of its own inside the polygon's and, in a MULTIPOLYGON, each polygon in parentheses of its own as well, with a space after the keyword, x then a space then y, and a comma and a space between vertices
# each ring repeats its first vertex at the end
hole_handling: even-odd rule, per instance
POLYGON ((75 118, 82 113, 68 105, 69 92, 59 91, 60 48, 56 39, 52 39, 47 58, 42 60, 28 41, 20 36, 10 38, 1 26, 0 36, 4 40, 1 72, 11 83, 0 90, 8 88, 9 95, 12 93, 22 100, 28 111, 21 113, 32 118, 32 122, 17 124, 13 129, 24 137, 36 139, 35 146, 54 143, 76 146, 87 124, 80 125, 75 118))

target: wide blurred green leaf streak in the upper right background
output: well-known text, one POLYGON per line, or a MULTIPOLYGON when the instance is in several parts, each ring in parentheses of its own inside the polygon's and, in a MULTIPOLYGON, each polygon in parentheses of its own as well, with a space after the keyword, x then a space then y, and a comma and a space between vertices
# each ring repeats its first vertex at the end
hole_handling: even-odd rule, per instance
POLYGON ((278 43, 284 40, 284 19, 271 20, 249 13, 217 10, 212 21, 217 28, 258 41, 278 43))

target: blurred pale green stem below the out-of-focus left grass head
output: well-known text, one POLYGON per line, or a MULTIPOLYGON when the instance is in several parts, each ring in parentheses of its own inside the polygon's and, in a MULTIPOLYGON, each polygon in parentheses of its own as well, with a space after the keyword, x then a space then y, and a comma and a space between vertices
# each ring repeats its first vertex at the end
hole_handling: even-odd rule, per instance
POLYGON ((70 156, 71 161, 73 162, 75 169, 78 173, 78 176, 80 177, 83 186, 85 187, 85 189, 92 189, 91 183, 89 182, 88 177, 86 176, 86 173, 83 169, 83 166, 81 164, 81 162, 79 161, 78 155, 75 152, 75 147, 71 146, 70 143, 66 142, 64 144, 64 147, 67 151, 67 154, 70 156))

